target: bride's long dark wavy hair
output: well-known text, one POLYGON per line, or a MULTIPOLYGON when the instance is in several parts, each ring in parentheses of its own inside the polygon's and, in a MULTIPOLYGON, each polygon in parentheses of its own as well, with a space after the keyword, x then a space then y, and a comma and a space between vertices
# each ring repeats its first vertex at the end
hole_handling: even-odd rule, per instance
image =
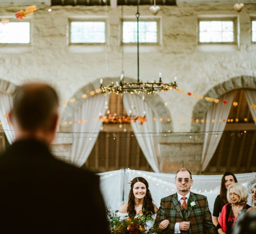
POLYGON ((153 205, 152 196, 151 196, 151 193, 149 190, 149 183, 143 177, 135 177, 131 181, 131 189, 130 189, 130 193, 129 193, 127 213, 132 216, 136 215, 134 195, 133 195, 132 189, 133 189, 134 184, 137 182, 142 182, 146 186, 146 195, 144 197, 143 206, 142 206, 143 214, 146 214, 148 212, 152 212, 152 214, 154 214, 155 209, 154 209, 154 205, 153 205))

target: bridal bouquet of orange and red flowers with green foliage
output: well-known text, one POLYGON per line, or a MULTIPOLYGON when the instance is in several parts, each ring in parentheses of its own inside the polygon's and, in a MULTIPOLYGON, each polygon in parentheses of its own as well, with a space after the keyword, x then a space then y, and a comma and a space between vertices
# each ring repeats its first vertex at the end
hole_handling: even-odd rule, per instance
POLYGON ((151 212, 148 214, 140 212, 134 217, 128 215, 121 217, 117 214, 118 210, 113 212, 109 208, 106 209, 106 212, 110 222, 111 234, 151 234, 158 231, 154 227, 147 230, 146 222, 152 220, 151 212))

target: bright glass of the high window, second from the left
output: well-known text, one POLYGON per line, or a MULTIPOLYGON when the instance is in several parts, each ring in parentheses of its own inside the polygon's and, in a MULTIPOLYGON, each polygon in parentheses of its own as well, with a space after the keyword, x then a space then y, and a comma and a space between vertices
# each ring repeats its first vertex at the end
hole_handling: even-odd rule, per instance
POLYGON ((105 43, 105 22, 73 21, 71 22, 71 43, 105 43))

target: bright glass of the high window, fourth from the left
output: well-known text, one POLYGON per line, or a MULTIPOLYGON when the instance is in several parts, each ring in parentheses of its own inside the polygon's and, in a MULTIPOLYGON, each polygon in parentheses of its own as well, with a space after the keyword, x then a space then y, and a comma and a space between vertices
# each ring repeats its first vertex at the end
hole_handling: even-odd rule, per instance
POLYGON ((200 21, 199 22, 199 42, 234 42, 234 22, 233 21, 200 21))

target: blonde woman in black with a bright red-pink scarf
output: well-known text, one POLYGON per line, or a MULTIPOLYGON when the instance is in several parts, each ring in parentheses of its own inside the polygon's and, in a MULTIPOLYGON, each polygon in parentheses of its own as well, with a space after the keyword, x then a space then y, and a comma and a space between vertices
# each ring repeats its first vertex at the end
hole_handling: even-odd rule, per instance
POLYGON ((241 183, 233 183, 228 187, 228 203, 223 206, 219 223, 216 227, 219 234, 230 234, 240 214, 250 208, 246 204, 248 198, 247 190, 241 183))

